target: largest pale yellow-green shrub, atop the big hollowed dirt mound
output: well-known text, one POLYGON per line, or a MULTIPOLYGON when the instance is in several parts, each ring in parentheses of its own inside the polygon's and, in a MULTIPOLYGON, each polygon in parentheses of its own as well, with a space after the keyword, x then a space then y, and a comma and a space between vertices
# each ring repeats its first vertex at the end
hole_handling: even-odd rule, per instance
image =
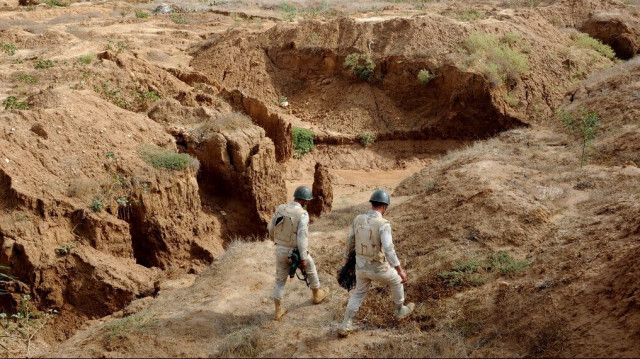
POLYGON ((495 35, 472 33, 463 47, 467 52, 467 65, 478 68, 493 87, 505 81, 515 82, 529 72, 527 56, 495 35))

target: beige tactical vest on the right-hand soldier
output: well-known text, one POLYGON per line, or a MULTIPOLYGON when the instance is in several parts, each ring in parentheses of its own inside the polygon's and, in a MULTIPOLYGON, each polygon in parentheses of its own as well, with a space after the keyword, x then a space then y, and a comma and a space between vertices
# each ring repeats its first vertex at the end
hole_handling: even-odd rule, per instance
POLYGON ((380 228, 389 223, 382 217, 361 214, 353 221, 356 239, 356 254, 373 262, 384 262, 380 228))

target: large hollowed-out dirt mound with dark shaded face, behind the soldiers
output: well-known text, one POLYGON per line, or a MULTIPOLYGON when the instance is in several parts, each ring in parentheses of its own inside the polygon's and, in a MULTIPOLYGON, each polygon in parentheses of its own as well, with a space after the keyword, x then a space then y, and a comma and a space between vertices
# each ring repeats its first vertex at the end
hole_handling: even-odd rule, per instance
POLYGON ((552 56, 570 47, 566 33, 535 12, 504 12, 499 19, 345 18, 282 24, 258 34, 236 30, 213 36, 194 53, 191 65, 273 112, 289 112, 294 125, 317 133, 357 137, 370 132, 380 140, 485 138, 522 126, 525 113, 551 113, 563 88, 571 86, 566 81, 571 69, 552 56), (532 22, 537 24, 533 32, 532 22), (467 68, 462 43, 470 34, 484 32, 515 34, 518 46, 526 47, 529 74, 505 89, 467 68), (354 53, 375 64, 368 81, 343 66, 354 53), (421 84, 421 70, 436 76, 421 84), (287 110, 276 105, 283 96, 290 104, 287 110))

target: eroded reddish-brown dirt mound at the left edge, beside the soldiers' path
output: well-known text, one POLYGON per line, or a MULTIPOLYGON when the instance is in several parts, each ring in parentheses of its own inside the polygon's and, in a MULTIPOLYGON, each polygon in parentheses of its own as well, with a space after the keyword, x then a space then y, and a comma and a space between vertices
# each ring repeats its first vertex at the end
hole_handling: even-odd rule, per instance
MULTIPOLYGON (((26 284, 15 296, 72 322, 57 337, 152 294, 159 271, 145 266, 198 270, 222 250, 195 172, 155 169, 140 156, 142 145, 175 148, 173 138, 91 92, 76 103, 77 94, 47 90, 30 99, 32 110, 0 115, 1 264, 26 284), (96 301, 98 292, 108 300, 96 301)), ((5 310, 9 298, 0 298, 5 310)))

